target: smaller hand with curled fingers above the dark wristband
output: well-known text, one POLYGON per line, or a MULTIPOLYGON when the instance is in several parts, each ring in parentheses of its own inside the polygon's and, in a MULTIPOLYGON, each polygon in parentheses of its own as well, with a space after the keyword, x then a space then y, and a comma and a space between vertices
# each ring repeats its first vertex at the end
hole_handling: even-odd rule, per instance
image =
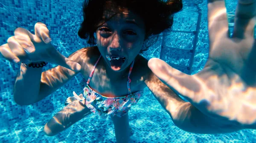
POLYGON ((49 62, 73 71, 81 70, 80 64, 66 58, 52 46, 49 30, 42 22, 35 24, 35 34, 24 28, 15 29, 14 36, 9 37, 7 42, 0 46, 0 57, 10 62, 49 62))

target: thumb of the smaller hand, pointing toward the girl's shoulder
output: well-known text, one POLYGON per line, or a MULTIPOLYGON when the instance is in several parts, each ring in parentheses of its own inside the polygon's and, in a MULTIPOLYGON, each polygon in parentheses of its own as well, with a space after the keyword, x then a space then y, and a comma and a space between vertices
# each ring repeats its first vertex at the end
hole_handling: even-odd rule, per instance
POLYGON ((73 71, 81 70, 81 65, 79 63, 66 58, 61 53, 59 53, 58 50, 56 50, 54 47, 51 48, 49 56, 52 57, 52 58, 49 58, 49 60, 52 60, 52 61, 45 61, 45 62, 58 64, 62 67, 66 67, 73 71))

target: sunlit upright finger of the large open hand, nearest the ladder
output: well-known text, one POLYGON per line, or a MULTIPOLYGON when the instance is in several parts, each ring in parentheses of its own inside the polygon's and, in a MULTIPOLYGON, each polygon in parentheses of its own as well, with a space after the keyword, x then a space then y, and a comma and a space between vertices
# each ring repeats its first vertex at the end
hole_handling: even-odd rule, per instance
MULTIPOLYGON (((227 9, 224 0, 208 0, 209 44, 228 36, 227 9)), ((212 46, 210 46, 212 47, 212 46)))

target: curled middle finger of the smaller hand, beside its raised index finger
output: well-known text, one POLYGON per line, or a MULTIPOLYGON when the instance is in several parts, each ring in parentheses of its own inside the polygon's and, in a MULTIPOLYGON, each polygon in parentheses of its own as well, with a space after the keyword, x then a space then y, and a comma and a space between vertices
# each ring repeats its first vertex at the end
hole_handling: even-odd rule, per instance
POLYGON ((35 45, 32 43, 29 33, 30 32, 24 28, 16 28, 14 31, 17 42, 27 53, 31 54, 35 52, 35 45))

